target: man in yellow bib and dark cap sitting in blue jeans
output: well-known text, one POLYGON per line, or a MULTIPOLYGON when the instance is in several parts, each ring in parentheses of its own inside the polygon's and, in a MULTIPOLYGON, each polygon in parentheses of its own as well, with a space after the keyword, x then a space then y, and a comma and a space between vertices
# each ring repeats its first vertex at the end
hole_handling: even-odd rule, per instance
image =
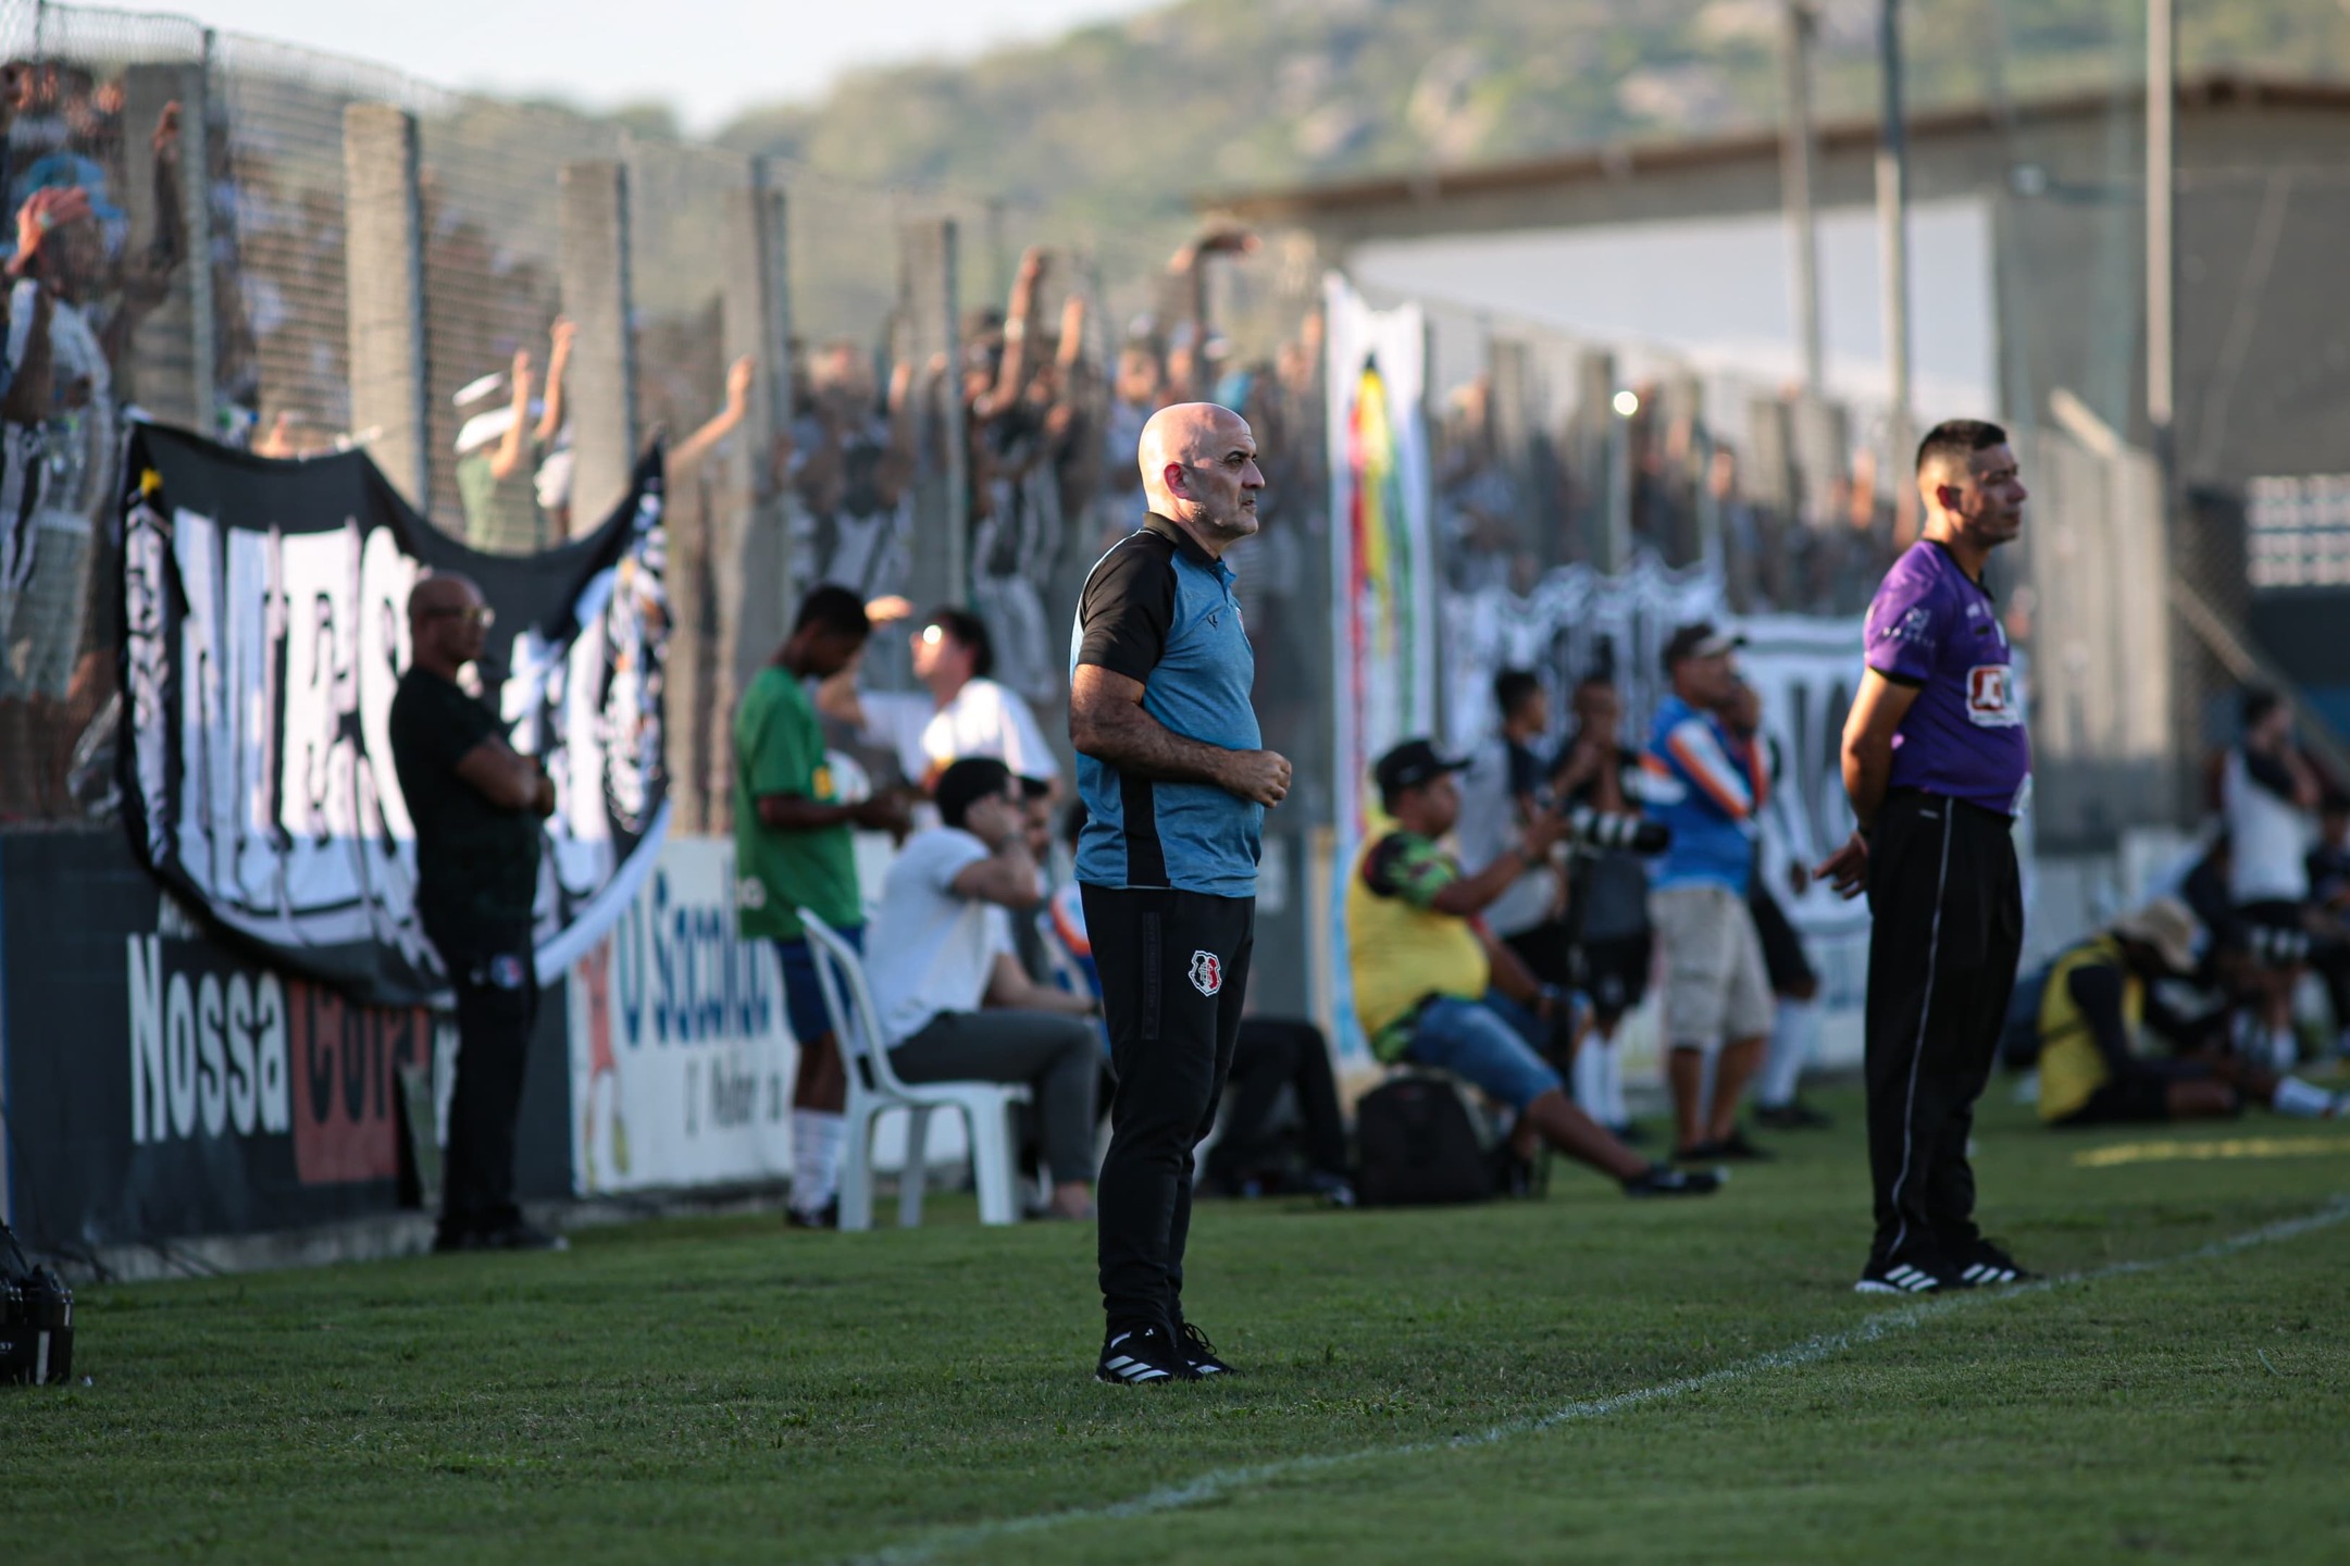
MULTIPOLYGON (((1452 1072, 1506 1103, 1518 1112, 1511 1147, 1520 1159, 1542 1140, 1614 1176, 1629 1197, 1716 1190, 1713 1173, 1647 1164, 1567 1098, 1544 1053, 1572 1025, 1572 999, 1537 983, 1478 915, 1570 825, 1544 811, 1518 846, 1462 875, 1436 846, 1459 821, 1452 774, 1462 767, 1424 738, 1377 764, 1379 799, 1396 828, 1372 839, 1347 877, 1347 959, 1372 1053, 1452 1072)), ((1560 1053, 1572 1056, 1572 1037, 1560 1053)))

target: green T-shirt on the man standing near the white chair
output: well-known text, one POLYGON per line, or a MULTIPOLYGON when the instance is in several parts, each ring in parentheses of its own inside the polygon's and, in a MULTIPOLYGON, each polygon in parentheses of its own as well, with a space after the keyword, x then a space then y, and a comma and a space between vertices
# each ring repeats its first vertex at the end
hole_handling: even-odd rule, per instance
POLYGON ((759 823, 759 799, 799 795, 839 804, 825 764, 825 724, 799 677, 759 670, 736 708, 736 915, 743 938, 797 941, 799 910, 834 929, 865 922, 858 856, 848 825, 778 832, 759 823))

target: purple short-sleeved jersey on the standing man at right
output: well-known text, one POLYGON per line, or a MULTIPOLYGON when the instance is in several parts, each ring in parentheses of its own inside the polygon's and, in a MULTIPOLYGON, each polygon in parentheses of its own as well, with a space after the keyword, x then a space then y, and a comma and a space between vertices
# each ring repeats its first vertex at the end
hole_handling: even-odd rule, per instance
POLYGON ((1918 541, 1868 604, 1868 668, 1918 689, 1894 731, 1892 788, 2014 816, 2033 776, 2023 691, 2000 609, 1939 546, 1918 541))

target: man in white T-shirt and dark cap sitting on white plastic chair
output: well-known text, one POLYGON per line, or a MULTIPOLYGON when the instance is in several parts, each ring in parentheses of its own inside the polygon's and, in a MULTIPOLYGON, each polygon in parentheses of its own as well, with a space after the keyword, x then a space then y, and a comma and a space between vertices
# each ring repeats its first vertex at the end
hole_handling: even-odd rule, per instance
POLYGON ((865 971, 905 1082, 1027 1082, 1053 1176, 1053 1213, 1093 1211, 1093 997, 1034 983, 1010 910, 1043 901, 1020 783, 994 757, 938 776, 945 825, 916 832, 881 884, 865 971), (985 1006, 985 1009, 982 1009, 985 1006))

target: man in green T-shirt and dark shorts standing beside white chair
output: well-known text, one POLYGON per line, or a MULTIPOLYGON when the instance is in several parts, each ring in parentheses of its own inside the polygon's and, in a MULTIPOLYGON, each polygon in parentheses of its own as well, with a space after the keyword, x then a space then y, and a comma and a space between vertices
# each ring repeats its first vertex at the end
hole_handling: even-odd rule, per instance
POLYGON ((815 959, 799 910, 862 950, 865 898, 858 891, 851 828, 905 835, 905 797, 841 804, 825 762, 825 727, 808 680, 830 680, 865 647, 872 621, 848 588, 822 585, 799 604, 792 635, 736 708, 736 912, 745 941, 776 943, 783 1004, 799 1044, 792 1084, 792 1209, 801 1227, 839 1218, 834 1185, 848 1077, 815 983, 815 959))

